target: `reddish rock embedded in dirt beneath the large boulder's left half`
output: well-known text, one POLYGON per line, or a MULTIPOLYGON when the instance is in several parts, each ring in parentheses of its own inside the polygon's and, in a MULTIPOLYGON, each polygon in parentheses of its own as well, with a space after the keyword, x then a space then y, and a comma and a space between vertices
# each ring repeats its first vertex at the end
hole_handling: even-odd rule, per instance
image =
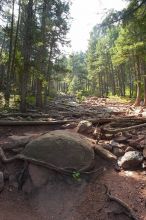
POLYGON ((32 183, 35 187, 41 187, 48 182, 50 175, 49 169, 45 167, 29 164, 28 171, 32 183))

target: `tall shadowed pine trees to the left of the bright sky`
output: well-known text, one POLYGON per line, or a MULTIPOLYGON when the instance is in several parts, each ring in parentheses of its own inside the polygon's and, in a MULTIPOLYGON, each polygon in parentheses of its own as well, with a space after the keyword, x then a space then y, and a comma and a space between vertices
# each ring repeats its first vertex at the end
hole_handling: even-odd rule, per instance
POLYGON ((42 107, 51 80, 64 77, 60 48, 69 43, 69 10, 70 0, 1 1, 0 91, 7 103, 17 91, 21 110, 30 104, 42 107))

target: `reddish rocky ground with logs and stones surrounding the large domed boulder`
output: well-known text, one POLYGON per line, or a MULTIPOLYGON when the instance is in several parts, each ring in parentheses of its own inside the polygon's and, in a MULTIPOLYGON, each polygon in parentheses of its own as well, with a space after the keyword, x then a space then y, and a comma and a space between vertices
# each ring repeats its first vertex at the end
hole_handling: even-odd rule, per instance
MULTIPOLYGON (((83 134, 97 153, 97 172, 80 178, 49 173, 49 181, 34 191, 29 183, 25 187, 20 184, 23 161, 1 162, 0 219, 146 220, 146 129, 141 126, 145 122, 144 108, 96 97, 78 103, 74 97, 62 96, 51 101, 46 112, 30 111, 26 115, 5 112, 0 117, 0 122, 28 122, 0 127, 0 146, 8 157, 21 152, 30 139, 56 129, 83 134), (60 124, 60 120, 72 121, 60 124), (59 123, 32 126, 29 124, 32 121, 59 123), (135 125, 140 127, 127 130, 135 125), (125 130, 108 132, 119 128, 125 130)), ((38 178, 39 169, 31 167, 30 173, 40 184, 44 176, 38 178)))

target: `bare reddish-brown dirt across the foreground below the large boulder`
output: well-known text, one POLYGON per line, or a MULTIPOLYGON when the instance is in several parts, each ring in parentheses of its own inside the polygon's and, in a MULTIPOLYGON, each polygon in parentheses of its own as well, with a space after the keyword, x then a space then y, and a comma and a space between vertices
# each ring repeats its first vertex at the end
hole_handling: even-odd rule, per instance
MULTIPOLYGON (((41 133, 58 127, 3 127, 0 128, 0 142, 7 136, 24 133, 41 133)), ((1 170, 15 174, 22 162, 0 165, 1 170)), ((138 220, 146 220, 146 176, 140 171, 114 170, 107 161, 97 157, 96 167, 104 172, 92 177, 82 177, 81 182, 58 176, 43 189, 24 195, 6 181, 0 193, 0 220, 130 220, 116 202, 109 201, 106 185, 111 194, 122 199, 133 209, 138 220)))

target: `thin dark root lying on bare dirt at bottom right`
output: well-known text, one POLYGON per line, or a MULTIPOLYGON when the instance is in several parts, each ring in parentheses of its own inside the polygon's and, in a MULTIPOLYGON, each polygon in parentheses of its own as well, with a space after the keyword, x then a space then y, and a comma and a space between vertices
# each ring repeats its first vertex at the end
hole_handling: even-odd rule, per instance
POLYGON ((111 195, 111 192, 109 191, 108 187, 106 185, 104 185, 106 188, 106 195, 108 196, 108 199, 111 201, 115 201, 118 204, 120 204, 123 208, 126 209, 126 211, 124 212, 126 215, 128 215, 131 219, 133 220, 138 220, 136 218, 136 216, 133 214, 133 210, 129 207, 129 205, 127 203, 125 203, 124 201, 122 201, 121 199, 111 195))

